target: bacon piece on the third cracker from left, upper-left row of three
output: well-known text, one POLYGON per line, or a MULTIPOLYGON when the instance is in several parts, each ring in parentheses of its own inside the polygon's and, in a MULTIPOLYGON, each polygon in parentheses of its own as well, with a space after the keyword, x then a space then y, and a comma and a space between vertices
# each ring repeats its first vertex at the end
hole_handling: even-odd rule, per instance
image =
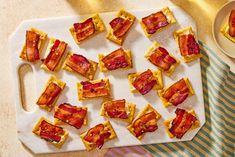
POLYGON ((83 76, 85 76, 91 68, 89 60, 84 56, 77 54, 73 54, 71 57, 69 57, 66 65, 83 76))

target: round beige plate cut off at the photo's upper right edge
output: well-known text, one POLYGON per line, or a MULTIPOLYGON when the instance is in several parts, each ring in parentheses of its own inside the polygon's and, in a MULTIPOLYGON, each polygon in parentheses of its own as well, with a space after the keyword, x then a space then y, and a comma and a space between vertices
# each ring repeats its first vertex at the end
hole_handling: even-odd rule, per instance
POLYGON ((235 9, 235 0, 226 3, 219 9, 213 21, 212 34, 219 49, 226 55, 235 58, 235 43, 221 32, 221 28, 228 22, 232 9, 235 9))

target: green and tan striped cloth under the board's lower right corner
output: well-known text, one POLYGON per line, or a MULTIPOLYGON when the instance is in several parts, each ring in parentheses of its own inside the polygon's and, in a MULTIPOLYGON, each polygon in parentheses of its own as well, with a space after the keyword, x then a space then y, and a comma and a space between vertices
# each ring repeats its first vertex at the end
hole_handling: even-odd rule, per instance
POLYGON ((112 148, 105 157, 235 156, 235 74, 203 42, 201 71, 206 123, 192 141, 112 148))

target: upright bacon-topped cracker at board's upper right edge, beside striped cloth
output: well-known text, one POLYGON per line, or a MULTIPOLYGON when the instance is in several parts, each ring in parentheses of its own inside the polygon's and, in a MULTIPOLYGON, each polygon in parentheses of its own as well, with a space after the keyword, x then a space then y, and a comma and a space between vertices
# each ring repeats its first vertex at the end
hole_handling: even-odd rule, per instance
POLYGON ((184 62, 191 62, 202 57, 192 27, 186 27, 174 32, 174 38, 178 42, 184 62))

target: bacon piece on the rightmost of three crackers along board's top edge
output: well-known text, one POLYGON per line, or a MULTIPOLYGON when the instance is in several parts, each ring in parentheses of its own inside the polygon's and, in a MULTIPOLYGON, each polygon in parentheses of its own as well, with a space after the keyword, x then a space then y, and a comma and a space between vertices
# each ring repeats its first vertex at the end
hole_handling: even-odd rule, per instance
POLYGON ((167 26, 169 23, 162 11, 142 18, 148 34, 154 34, 158 29, 167 26))

